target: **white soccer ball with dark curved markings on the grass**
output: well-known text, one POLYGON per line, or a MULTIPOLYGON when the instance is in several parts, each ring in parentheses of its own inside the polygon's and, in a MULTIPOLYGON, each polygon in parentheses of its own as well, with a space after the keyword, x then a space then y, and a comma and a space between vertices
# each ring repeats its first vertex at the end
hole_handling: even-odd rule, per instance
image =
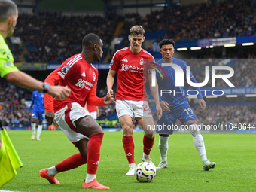
POLYGON ((136 166, 135 176, 136 179, 141 182, 151 182, 157 172, 156 167, 152 163, 142 162, 136 166))

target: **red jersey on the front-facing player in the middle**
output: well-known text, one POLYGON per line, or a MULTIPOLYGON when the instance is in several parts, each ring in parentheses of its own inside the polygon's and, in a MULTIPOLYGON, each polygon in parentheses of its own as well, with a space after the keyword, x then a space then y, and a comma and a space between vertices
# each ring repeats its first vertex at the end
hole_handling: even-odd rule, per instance
POLYGON ((117 72, 116 100, 147 100, 145 83, 148 66, 152 66, 148 61, 154 62, 154 57, 143 49, 133 53, 130 47, 125 47, 114 53, 109 69, 117 72))

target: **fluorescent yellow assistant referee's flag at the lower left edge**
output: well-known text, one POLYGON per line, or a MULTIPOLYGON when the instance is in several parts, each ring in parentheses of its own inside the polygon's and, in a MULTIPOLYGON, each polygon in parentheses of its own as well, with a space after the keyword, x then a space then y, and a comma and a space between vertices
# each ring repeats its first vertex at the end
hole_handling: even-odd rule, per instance
POLYGON ((23 166, 11 139, 5 129, 2 128, 2 120, 0 119, 1 128, 1 144, 0 145, 0 188, 11 181, 17 175, 16 169, 23 166))

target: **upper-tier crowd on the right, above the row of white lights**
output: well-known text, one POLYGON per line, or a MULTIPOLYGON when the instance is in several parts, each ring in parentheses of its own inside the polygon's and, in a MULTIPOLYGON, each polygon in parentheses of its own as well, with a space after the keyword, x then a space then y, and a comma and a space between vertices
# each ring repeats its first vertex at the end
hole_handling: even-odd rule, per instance
MULTIPOLYGON (((170 10, 148 14, 141 23, 147 32, 167 29, 166 38, 173 40, 236 37, 255 34, 255 11, 256 3, 251 0, 173 5, 170 10)), ((139 15, 129 17, 138 19, 139 15)))

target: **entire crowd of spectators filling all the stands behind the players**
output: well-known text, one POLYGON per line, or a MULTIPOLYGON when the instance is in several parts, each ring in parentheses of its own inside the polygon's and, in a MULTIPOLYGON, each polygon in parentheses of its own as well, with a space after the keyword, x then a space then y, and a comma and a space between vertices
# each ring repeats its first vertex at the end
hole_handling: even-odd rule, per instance
MULTIPOLYGON (((117 23, 122 21, 123 28, 120 36, 126 36, 130 26, 141 24, 146 32, 167 30, 163 38, 172 37, 173 40, 187 40, 194 38, 224 38, 239 35, 256 35, 256 3, 251 0, 226 1, 215 4, 172 5, 170 10, 153 11, 142 17, 138 13, 117 16, 111 13, 108 17, 101 16, 65 16, 60 12, 41 12, 39 17, 20 14, 15 36, 23 41, 23 46, 14 51, 16 62, 20 62, 17 55, 23 54, 26 62, 62 62, 69 56, 81 52, 81 39, 89 32, 96 33, 104 42, 104 57, 111 59, 111 40, 117 23), (236 14, 233 14, 236 13, 236 14)), ((158 41, 158 40, 157 40, 158 41)), ((124 44, 129 43, 128 41, 124 44)), ((226 55, 216 51, 195 52, 190 59, 185 59, 197 82, 205 78, 205 66, 218 65, 223 59, 230 60, 227 66, 234 69, 235 75, 230 81, 235 87, 253 87, 256 82, 256 68, 254 49, 227 50, 226 55), (196 59, 200 58, 200 59, 196 59), (209 59, 212 58, 212 59, 209 59), (238 59, 248 58, 248 59, 238 59)), ((108 59, 109 60, 109 59, 108 59)), ((103 62, 103 59, 102 61, 103 62)), ((226 73, 218 71, 218 74, 226 73)), ((229 72, 227 72, 229 73, 229 72)), ((212 78, 205 87, 211 87, 212 78)), ((217 87, 227 87, 224 81, 216 81, 217 87)), ((5 126, 29 126, 31 111, 27 111, 25 100, 31 98, 30 90, 21 89, 9 84, 4 79, 0 84, 0 110, 5 126)), ((105 96, 106 87, 99 89, 97 95, 105 96)), ((194 108, 200 123, 219 122, 250 122, 255 123, 255 109, 252 105, 209 105, 206 112, 194 108)), ((117 120, 115 105, 99 108, 98 120, 117 120)), ((103 122, 102 121, 102 122, 103 122)), ((108 127, 107 125, 105 125, 108 127)), ((120 123, 114 124, 120 128, 120 123)), ((135 123, 139 128, 139 124, 135 123)))

